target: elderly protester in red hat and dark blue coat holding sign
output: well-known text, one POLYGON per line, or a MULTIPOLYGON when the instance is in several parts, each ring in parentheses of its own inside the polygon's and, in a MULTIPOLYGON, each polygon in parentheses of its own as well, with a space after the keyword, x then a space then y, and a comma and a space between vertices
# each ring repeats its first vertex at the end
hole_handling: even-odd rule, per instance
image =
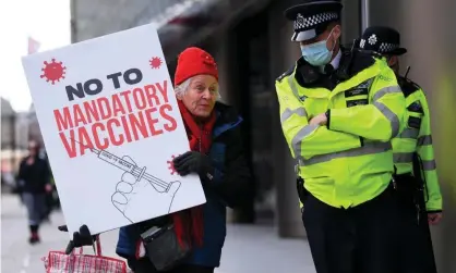
MULTIPOLYGON (((182 176, 200 175, 207 202, 120 228, 117 253, 135 273, 157 272, 145 253, 141 233, 169 223, 173 223, 179 240, 190 238, 187 243, 192 248, 170 272, 214 272, 226 236, 226 207, 239 204, 248 195, 250 170, 241 144, 241 119, 233 108, 217 101, 218 70, 213 57, 200 48, 185 49, 178 59, 175 91, 191 147, 173 160, 175 169, 182 176)), ((68 251, 92 244, 86 227, 81 231, 85 236, 75 233, 68 251)))

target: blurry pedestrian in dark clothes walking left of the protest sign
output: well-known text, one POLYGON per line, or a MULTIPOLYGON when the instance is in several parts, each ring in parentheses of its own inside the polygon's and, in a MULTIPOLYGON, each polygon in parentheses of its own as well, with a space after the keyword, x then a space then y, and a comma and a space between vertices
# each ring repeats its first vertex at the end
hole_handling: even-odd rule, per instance
POLYGON ((51 190, 51 186, 48 162, 40 153, 40 146, 35 140, 28 142, 28 156, 21 161, 17 186, 27 209, 31 232, 28 241, 39 243, 39 225, 46 214, 46 195, 51 190))

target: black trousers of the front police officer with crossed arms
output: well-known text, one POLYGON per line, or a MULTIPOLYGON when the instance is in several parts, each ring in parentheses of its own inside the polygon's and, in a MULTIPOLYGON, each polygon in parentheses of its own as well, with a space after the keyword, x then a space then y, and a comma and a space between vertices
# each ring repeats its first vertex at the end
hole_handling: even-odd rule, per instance
POLYGON ((392 187, 350 209, 308 194, 302 221, 317 273, 396 273, 397 210, 392 187))

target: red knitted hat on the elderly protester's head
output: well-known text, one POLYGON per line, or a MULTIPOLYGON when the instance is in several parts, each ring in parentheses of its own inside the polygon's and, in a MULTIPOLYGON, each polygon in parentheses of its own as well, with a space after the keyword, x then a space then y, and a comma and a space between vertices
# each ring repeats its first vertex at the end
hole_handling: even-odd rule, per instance
POLYGON ((202 74, 212 75, 218 80, 218 70, 214 58, 201 48, 191 47, 183 50, 178 58, 175 86, 202 74))

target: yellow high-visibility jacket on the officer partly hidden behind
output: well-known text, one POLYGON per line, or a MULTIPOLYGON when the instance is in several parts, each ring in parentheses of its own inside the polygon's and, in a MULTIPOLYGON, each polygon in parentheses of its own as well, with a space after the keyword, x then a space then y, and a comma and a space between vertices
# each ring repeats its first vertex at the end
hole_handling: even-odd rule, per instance
MULTIPOLYGON (((399 77, 406 97, 406 127, 393 139, 394 163, 398 174, 413 173, 413 153, 420 159, 421 177, 425 182, 424 199, 428 211, 442 210, 434 148, 432 147, 431 117, 425 95, 420 86, 399 77)), ((417 175, 417 174, 416 174, 417 175)))

